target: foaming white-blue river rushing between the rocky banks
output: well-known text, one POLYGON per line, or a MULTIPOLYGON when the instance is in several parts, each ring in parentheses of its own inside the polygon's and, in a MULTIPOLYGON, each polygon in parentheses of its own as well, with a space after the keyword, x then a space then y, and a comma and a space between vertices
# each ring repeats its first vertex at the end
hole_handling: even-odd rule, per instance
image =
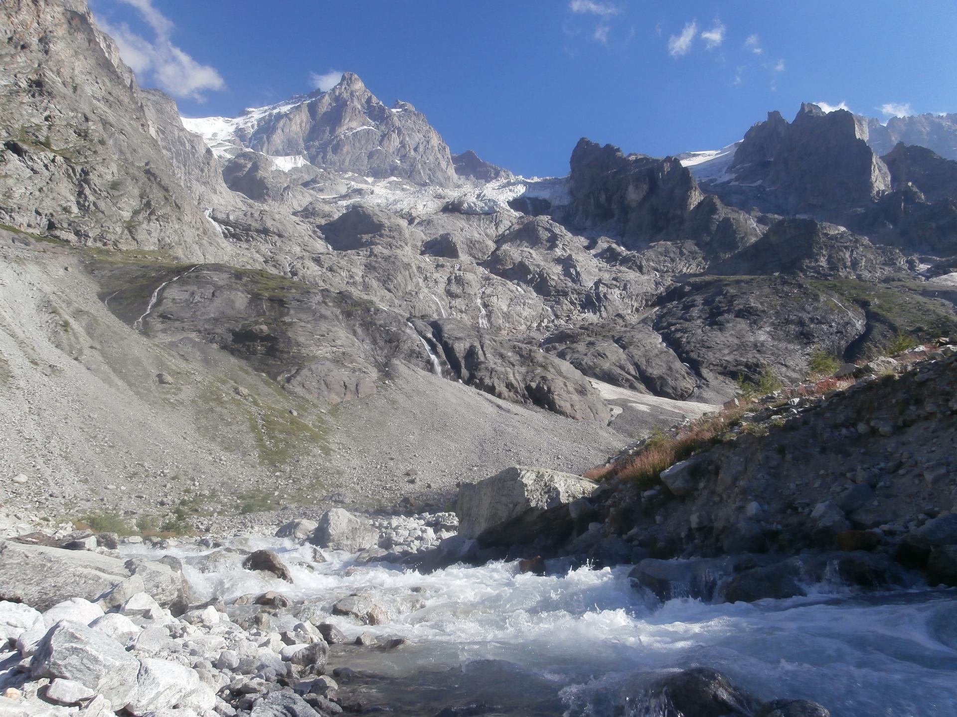
MULTIPOLYGON (((185 558, 199 598, 276 590, 308 601, 349 637, 371 632, 409 639, 388 657, 367 651, 350 653, 346 661, 402 678, 407 686, 425 680, 423 675, 432 675, 434 686, 440 680, 435 675, 460 665, 484 675, 502 663, 483 661, 504 661, 506 669, 493 670, 488 679, 521 673, 520 686, 468 689, 538 690, 560 701, 568 715, 598 717, 615 713, 612 705, 620 706, 634 689, 636 674, 705 665, 762 699, 811 699, 835 716, 957 714, 954 591, 861 597, 831 588, 831 594, 754 604, 674 599, 657 605, 630 585, 628 568, 538 576, 519 573, 514 564, 491 563, 420 574, 388 564, 355 566, 337 553, 326 563, 309 564, 311 548, 278 539, 240 541, 238 547, 282 552, 295 579, 292 589, 243 571, 239 555, 200 572, 190 567, 197 558, 189 555, 197 553, 181 550, 177 554, 185 558), (335 600, 357 592, 372 595, 389 621, 359 626, 329 615, 335 600)), ((457 683, 448 686, 459 689, 457 683)))

